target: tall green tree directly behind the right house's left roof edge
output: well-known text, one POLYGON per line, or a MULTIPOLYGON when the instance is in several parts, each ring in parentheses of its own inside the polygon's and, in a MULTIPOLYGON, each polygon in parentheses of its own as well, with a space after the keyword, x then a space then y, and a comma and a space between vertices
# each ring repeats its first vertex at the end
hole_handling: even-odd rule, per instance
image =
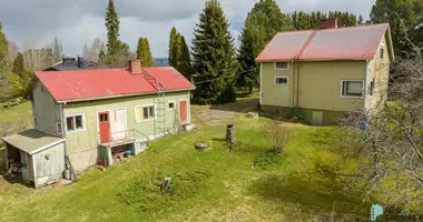
MULTIPOLYGON (((292 22, 296 22, 296 12, 292 14, 292 22)), ((258 64, 255 62, 258 53, 268 41, 278 32, 289 29, 289 16, 281 12, 274 0, 260 0, 257 2, 245 20, 240 36, 240 46, 237 60, 239 72, 237 77, 238 87, 248 87, 249 93, 253 87, 259 82, 258 64), (248 72, 244 72, 250 70, 248 72)))

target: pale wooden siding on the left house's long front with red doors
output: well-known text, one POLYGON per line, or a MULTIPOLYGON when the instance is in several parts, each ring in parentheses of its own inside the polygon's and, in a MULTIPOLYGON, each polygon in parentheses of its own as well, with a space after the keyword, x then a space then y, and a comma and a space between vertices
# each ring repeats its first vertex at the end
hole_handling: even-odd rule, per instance
MULTIPOLYGON (((68 154, 75 154, 98 148, 99 131, 98 131, 98 111, 112 110, 112 109, 126 109, 127 114, 127 129, 136 129, 147 135, 154 135, 154 120, 147 120, 141 122, 135 121, 135 107, 154 104, 154 98, 151 95, 139 95, 129 98, 117 98, 108 100, 97 100, 88 102, 75 102, 65 105, 65 115, 75 113, 85 113, 85 131, 67 133, 66 148, 68 154)), ((188 101, 188 122, 189 122, 189 92, 173 92, 166 94, 166 125, 171 128, 175 122, 178 121, 178 101, 188 101), (169 110, 167 102, 175 101, 175 110, 169 110)), ((157 113, 157 112, 156 112, 157 113)))

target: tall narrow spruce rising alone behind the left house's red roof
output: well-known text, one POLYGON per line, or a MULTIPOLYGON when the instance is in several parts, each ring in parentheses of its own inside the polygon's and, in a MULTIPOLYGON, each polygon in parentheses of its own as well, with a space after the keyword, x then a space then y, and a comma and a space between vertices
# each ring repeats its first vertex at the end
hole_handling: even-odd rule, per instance
POLYGON ((119 17, 115 9, 114 0, 109 0, 106 11, 107 52, 117 53, 119 50, 119 17))

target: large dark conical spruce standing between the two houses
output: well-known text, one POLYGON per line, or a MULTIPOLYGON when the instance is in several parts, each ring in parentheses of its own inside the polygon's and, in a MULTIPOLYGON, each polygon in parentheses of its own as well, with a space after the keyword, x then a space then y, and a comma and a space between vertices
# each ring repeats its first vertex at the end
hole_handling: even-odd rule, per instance
POLYGON ((194 30, 193 58, 199 83, 194 92, 194 101, 213 103, 233 99, 234 91, 224 90, 233 84, 237 71, 233 37, 229 24, 217 0, 206 2, 194 30), (219 78, 219 79, 218 79, 219 78))

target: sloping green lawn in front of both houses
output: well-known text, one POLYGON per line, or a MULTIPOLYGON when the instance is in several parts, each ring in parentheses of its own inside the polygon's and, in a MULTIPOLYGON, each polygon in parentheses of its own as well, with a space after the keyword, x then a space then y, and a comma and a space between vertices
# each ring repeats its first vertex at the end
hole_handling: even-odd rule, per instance
MULTIPOLYGON (((23 104, 28 105, 28 104, 23 104)), ((0 221, 327 221, 322 214, 368 215, 360 193, 346 193, 342 181, 315 173, 317 162, 334 164, 334 128, 287 124, 286 155, 269 155, 265 118, 239 113, 238 144, 224 142, 225 127, 197 129, 157 140, 150 148, 106 171, 91 169, 80 181, 39 191, 0 180, 0 221), (193 144, 209 142, 208 151, 193 144), (157 185, 173 178, 171 192, 157 185)))

